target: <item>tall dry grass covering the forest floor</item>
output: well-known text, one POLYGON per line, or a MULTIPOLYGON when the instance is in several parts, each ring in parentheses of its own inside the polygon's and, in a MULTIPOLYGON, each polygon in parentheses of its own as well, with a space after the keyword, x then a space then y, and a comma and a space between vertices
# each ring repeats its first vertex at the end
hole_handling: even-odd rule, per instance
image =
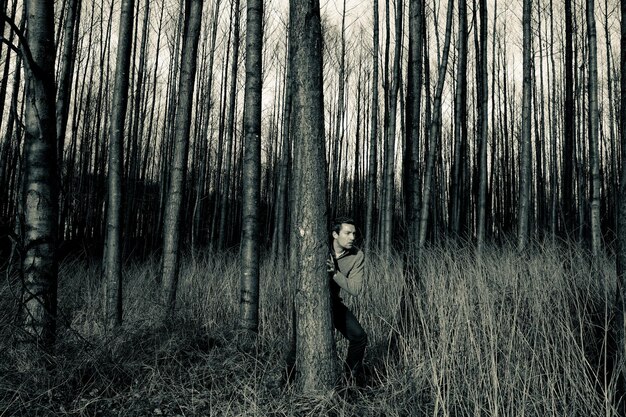
MULTIPOLYGON (((368 331, 365 385, 305 396, 284 378, 291 280, 262 265, 260 334, 237 349, 236 253, 185 258, 174 324, 158 325, 158 262, 125 267, 124 324, 102 326, 99 262, 66 259, 58 342, 44 364, 20 345, 19 282, 0 284, 0 416, 611 416, 602 369, 615 271, 579 248, 528 256, 431 248, 421 256, 413 327, 398 336, 399 259, 370 254, 365 292, 346 297, 368 331), (389 349, 391 336, 395 349, 389 349)), ((346 343, 337 337, 339 358, 346 343)))

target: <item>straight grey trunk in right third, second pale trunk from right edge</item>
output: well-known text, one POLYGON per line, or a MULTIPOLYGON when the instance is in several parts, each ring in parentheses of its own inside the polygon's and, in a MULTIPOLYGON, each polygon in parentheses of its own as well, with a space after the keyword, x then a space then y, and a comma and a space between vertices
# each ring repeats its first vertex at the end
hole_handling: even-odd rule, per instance
POLYGON ((528 245, 528 220, 530 205, 530 182, 531 182, 531 10, 532 1, 524 0, 522 27, 523 27, 523 85, 522 85, 522 133, 520 138, 520 169, 519 169, 519 201, 517 219, 517 246, 524 250, 528 245))

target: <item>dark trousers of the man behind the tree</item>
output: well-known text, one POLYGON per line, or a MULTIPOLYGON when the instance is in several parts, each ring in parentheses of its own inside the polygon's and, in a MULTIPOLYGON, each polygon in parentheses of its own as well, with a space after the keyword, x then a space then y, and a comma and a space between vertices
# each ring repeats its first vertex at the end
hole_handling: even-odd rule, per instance
POLYGON ((348 339, 348 354, 346 356, 346 371, 352 375, 363 369, 363 358, 367 347, 367 333, 352 312, 341 302, 334 299, 331 303, 333 325, 335 329, 348 339))

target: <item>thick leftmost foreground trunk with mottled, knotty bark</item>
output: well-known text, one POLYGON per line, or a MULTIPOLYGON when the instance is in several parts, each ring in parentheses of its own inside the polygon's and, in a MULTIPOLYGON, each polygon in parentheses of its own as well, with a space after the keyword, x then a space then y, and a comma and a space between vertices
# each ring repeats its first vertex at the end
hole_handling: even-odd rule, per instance
POLYGON ((57 316, 58 184, 55 122, 54 4, 27 0, 23 174, 22 320, 26 335, 50 348, 57 316))

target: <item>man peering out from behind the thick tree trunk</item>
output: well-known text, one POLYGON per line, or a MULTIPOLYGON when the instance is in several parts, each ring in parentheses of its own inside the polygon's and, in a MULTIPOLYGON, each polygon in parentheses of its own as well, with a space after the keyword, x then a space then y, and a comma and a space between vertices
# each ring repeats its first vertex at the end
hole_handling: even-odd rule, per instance
POLYGON ((332 242, 327 260, 333 325, 348 339, 346 373, 359 382, 363 373, 363 357, 367 333, 339 296, 341 290, 358 296, 363 286, 363 252, 354 246, 356 227, 348 217, 339 217, 331 225, 332 242))

